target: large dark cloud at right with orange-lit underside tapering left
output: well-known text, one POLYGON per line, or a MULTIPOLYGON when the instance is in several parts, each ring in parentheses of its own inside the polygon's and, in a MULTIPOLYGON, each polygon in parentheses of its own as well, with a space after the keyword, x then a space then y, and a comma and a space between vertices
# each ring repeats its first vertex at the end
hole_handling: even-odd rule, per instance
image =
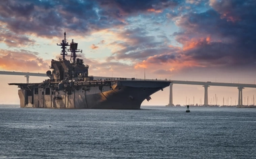
MULTIPOLYGON (((252 19, 255 10, 246 2, 228 1, 228 7, 222 7, 222 2, 212 1, 213 9, 200 13, 187 12, 176 17, 175 23, 180 30, 172 37, 181 44, 180 50, 175 46, 177 50, 149 56, 135 64, 135 68, 158 68, 156 74, 162 74, 166 68, 172 73, 187 68, 224 68, 226 71, 256 68, 256 46, 253 44, 256 41, 253 27, 256 23, 252 19), (241 7, 250 11, 242 11, 241 7), (237 20, 230 20, 230 16, 223 17, 224 13, 237 20)), ((255 5, 254 1, 250 3, 255 5)))

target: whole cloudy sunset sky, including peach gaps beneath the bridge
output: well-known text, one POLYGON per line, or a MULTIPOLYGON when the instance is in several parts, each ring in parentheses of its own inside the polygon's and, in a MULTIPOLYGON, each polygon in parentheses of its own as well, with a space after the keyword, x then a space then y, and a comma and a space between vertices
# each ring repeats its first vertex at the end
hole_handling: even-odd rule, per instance
MULTIPOLYGON (((45 73, 66 32, 92 76, 144 78, 145 70, 150 79, 255 84, 255 8, 255 0, 3 0, 0 70, 45 73)), ((19 104, 18 88, 7 83, 26 78, 0 76, 0 104, 19 104)), ((237 88, 208 93, 212 103, 215 95, 220 105, 238 101, 237 88)), ((166 88, 143 105, 167 105, 168 95, 166 88)), ((244 104, 253 95, 244 89, 244 104)), ((173 97, 174 104, 200 104, 203 87, 174 85, 173 97)))

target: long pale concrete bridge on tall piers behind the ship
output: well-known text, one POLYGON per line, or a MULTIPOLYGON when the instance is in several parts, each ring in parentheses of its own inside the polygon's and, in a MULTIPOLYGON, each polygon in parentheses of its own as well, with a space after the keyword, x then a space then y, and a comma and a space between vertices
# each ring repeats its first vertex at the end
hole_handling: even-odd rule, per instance
MULTIPOLYGON (((34 73, 34 72, 14 72, 14 71, 0 71, 0 74, 7 74, 7 75, 22 75, 26 77, 27 83, 29 83, 30 76, 46 76, 46 73, 34 73)), ((106 76, 94 76, 95 79, 117 79, 116 77, 106 77, 106 76)), ((140 79, 140 78, 125 78, 127 80, 147 80, 151 81, 150 79, 140 79)), ((208 105, 208 87, 210 86, 222 86, 222 87, 236 87, 238 89, 238 106, 243 105, 243 89, 245 88, 256 88, 255 84, 243 84, 243 83, 212 83, 208 82, 200 82, 200 81, 172 81, 170 83, 170 97, 169 97, 169 106, 174 106, 172 100, 172 85, 201 85, 204 87, 204 104, 208 105)))

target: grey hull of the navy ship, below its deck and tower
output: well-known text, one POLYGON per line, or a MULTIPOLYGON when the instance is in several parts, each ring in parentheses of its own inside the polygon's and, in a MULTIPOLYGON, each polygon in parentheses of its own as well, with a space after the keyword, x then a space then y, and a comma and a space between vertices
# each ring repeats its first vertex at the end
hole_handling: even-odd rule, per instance
MULTIPOLYGON (((49 86, 19 85, 20 107, 59 109, 140 109, 150 95, 168 87, 169 81, 110 81, 109 85, 82 85, 67 91, 49 86), (27 89, 29 88, 29 89, 27 89)), ((77 84, 78 85, 78 84, 77 84)))

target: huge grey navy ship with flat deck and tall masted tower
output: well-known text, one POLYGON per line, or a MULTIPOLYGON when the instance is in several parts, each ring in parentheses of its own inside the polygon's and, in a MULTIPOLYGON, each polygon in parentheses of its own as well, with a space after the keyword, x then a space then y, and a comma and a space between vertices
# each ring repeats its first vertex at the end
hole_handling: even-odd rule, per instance
POLYGON ((77 58, 77 52, 82 53, 77 43, 66 42, 66 33, 57 45, 61 46, 62 59, 51 61, 51 70, 46 71, 49 79, 42 83, 9 83, 20 88, 20 107, 140 109, 144 100, 150 101, 150 95, 170 85, 170 81, 136 81, 135 78, 95 79, 88 76, 89 66, 77 58))

